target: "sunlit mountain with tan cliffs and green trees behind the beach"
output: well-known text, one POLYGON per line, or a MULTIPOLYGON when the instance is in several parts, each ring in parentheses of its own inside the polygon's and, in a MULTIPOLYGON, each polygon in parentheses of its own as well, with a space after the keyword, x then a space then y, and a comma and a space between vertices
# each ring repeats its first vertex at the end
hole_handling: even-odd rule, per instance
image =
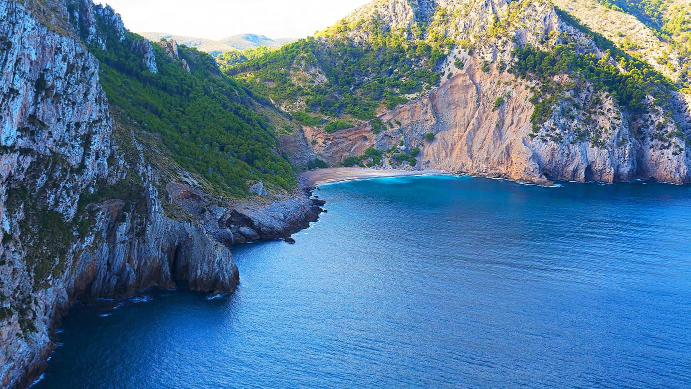
POLYGON ((379 0, 226 70, 303 123, 300 164, 688 183, 687 98, 656 69, 547 1, 379 0))

